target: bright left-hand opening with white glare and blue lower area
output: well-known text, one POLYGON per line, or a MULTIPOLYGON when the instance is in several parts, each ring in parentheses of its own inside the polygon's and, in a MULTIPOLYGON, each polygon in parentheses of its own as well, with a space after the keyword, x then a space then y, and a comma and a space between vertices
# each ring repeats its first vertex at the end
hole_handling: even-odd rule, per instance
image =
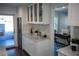
POLYGON ((13 15, 0 15, 0 47, 14 46, 13 15))

